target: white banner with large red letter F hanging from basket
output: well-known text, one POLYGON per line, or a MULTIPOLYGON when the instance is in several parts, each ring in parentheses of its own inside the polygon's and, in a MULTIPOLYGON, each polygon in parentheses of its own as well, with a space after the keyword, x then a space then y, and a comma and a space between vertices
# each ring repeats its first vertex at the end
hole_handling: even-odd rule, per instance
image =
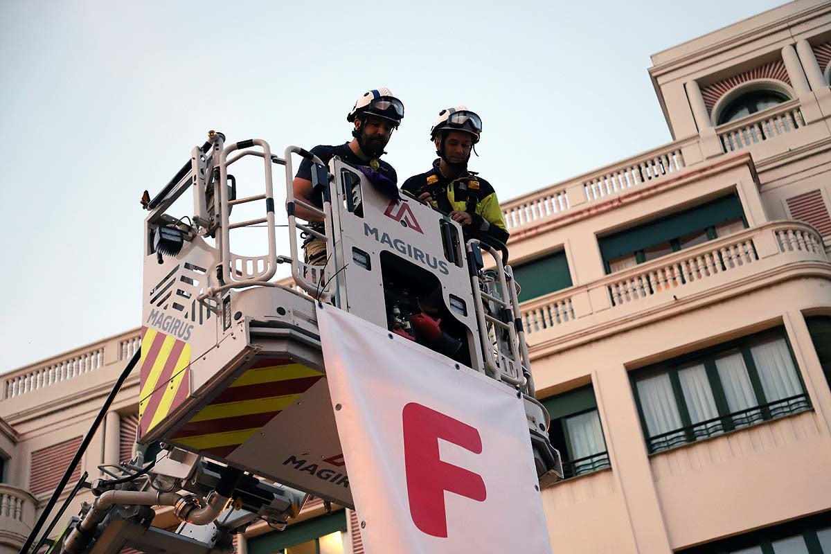
POLYGON ((551 552, 514 390, 332 306, 317 321, 367 554, 551 552))

